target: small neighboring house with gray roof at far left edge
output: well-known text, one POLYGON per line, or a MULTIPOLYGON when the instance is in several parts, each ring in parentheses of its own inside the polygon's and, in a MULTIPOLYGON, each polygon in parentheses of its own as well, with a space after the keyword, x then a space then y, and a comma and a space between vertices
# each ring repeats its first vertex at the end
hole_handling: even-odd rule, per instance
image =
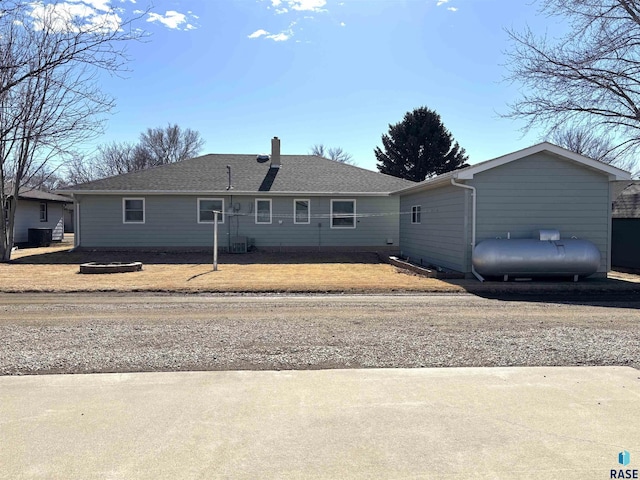
MULTIPOLYGON (((9 189, 7 189, 9 190, 9 189)), ((5 208, 13 198, 6 199, 5 208)), ((29 243, 29 230, 46 231, 47 239, 59 242, 64 238, 65 205, 73 200, 63 195, 45 192, 30 187, 22 187, 18 191, 18 206, 13 225, 14 243, 29 243), (49 238, 50 232, 50 238, 49 238)), ((39 232, 35 232, 39 233, 39 232)), ((40 237, 37 235, 36 237, 40 237)), ((32 236, 33 239, 33 236, 32 236)), ((42 238, 40 238, 42 240, 42 238)), ((48 243, 48 240, 44 243, 48 243)), ((40 243, 40 242, 38 242, 40 243)))

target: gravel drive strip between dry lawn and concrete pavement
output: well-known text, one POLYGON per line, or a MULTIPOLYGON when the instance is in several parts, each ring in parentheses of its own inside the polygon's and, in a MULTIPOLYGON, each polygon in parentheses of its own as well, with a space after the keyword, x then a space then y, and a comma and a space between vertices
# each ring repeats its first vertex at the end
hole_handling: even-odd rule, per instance
POLYGON ((471 295, 0 298, 0 374, 629 365, 640 302, 471 295))

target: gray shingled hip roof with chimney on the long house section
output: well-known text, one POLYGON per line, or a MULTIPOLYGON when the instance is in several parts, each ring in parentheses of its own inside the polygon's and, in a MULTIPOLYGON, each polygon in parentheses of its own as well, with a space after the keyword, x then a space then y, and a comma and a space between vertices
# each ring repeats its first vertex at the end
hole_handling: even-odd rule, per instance
POLYGON ((62 189, 65 193, 388 194, 414 182, 315 155, 210 154, 62 189), (227 165, 231 170, 231 189, 227 165))

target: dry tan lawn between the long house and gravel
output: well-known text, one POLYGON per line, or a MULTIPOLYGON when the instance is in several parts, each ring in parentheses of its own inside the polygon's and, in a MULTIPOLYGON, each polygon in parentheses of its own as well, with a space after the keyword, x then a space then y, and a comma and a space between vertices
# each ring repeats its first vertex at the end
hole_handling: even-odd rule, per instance
POLYGON ((0 265, 2 292, 451 292, 463 289, 407 274, 372 253, 221 255, 214 272, 206 253, 69 252, 70 245, 14 252, 0 265), (143 271, 79 274, 98 261, 142 261, 143 271))

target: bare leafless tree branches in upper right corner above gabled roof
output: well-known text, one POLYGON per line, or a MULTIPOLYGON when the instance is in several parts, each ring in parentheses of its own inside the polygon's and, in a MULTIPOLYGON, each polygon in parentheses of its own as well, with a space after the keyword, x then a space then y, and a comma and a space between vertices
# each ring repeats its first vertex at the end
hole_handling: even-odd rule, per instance
POLYGON ((615 156, 629 158, 640 145, 640 2, 541 0, 541 13, 568 31, 554 40, 530 28, 507 31, 507 78, 526 93, 506 116, 524 119, 526 129, 614 135, 615 156))

